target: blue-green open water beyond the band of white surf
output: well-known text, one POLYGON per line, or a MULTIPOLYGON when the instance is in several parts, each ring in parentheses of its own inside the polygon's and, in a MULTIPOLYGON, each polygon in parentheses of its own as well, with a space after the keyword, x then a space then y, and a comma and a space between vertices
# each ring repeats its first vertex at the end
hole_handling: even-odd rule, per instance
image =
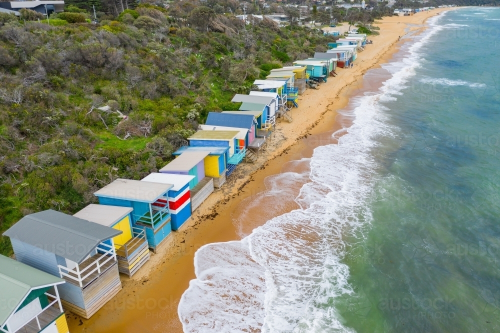
POLYGON ((369 226, 346 241, 354 292, 335 308, 357 332, 500 331, 500 9, 430 29, 381 102, 369 226))

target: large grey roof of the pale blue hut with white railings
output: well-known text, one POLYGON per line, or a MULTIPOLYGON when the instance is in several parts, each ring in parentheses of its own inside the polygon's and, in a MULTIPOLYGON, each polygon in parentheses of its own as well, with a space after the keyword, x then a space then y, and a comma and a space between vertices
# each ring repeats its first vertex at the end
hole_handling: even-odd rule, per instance
POLYGON ((102 241, 120 230, 52 209, 21 218, 3 234, 80 263, 102 241))

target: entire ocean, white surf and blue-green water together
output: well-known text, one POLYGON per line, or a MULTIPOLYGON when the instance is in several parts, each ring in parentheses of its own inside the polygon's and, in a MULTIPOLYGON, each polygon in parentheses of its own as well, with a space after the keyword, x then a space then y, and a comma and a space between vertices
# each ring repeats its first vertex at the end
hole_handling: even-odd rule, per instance
POLYGON ((276 177, 300 208, 196 252, 185 332, 500 331, 500 8, 427 24, 276 177))

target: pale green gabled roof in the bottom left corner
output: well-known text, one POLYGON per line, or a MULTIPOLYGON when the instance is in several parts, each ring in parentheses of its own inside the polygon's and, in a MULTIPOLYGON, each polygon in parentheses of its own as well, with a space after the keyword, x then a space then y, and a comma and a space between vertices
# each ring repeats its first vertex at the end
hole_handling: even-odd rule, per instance
POLYGON ((64 280, 0 254, 0 327, 14 313, 32 289, 64 283, 64 280))

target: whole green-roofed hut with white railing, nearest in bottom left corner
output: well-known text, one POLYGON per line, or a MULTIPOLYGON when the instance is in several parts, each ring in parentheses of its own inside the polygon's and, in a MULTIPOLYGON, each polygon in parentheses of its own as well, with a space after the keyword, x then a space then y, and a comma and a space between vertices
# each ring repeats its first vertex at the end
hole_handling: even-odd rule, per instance
POLYGON ((0 254, 0 331, 68 333, 57 289, 62 283, 0 254))

